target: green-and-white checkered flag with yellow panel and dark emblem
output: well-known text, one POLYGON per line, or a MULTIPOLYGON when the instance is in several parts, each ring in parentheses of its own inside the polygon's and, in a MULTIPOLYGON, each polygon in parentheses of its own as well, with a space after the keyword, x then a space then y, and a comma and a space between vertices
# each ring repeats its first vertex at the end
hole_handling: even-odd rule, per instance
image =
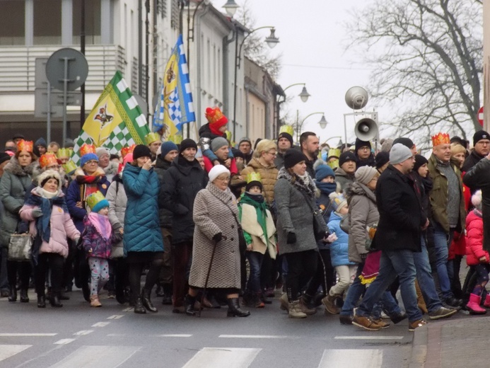
POLYGON ((95 144, 117 154, 122 147, 144 144, 150 132, 146 117, 136 102, 120 71, 105 87, 75 139, 71 159, 78 165, 82 144, 95 144))

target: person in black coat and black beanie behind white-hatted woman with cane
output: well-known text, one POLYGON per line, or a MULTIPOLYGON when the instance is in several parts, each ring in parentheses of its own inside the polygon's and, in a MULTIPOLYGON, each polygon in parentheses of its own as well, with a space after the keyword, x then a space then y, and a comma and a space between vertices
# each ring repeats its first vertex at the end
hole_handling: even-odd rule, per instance
POLYGON ((179 155, 163 174, 163 188, 159 197, 159 207, 173 213, 173 312, 184 312, 184 297, 189 285, 186 271, 192 255, 194 221, 192 209, 199 190, 206 188, 208 178, 199 161, 195 159, 197 144, 192 139, 184 139, 179 155))

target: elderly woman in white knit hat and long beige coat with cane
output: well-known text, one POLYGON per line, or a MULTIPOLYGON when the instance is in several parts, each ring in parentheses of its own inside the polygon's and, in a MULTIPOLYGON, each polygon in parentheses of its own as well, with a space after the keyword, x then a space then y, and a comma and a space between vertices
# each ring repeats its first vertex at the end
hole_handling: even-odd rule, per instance
POLYGON ((189 275, 189 294, 185 313, 194 316, 194 302, 199 289, 225 292, 228 317, 247 317, 240 309, 241 287, 238 207, 228 188, 230 171, 216 165, 209 171, 209 183, 194 200, 194 249, 189 275))

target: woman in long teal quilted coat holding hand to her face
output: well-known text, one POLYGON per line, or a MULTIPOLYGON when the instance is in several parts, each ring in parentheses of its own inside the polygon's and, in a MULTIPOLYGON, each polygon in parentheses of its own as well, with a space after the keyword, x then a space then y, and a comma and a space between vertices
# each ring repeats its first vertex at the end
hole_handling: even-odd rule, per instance
POLYGON ((158 280, 163 265, 163 238, 158 220, 158 176, 151 164, 151 151, 139 144, 134 147, 133 162, 124 166, 124 191, 127 195, 124 214, 124 255, 129 263, 129 284, 131 285, 134 313, 144 314, 146 310, 156 313, 151 303, 151 289, 158 280), (141 289, 141 272, 150 263, 146 280, 141 289))

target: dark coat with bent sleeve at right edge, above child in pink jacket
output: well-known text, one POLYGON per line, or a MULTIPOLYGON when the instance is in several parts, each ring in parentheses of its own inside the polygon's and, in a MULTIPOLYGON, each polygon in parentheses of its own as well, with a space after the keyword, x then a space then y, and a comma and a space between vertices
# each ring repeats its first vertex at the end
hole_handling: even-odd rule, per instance
MULTIPOLYGON (((2 178, 2 180, 4 180, 2 178)), ((490 251, 490 160, 483 159, 465 173, 463 181, 469 188, 482 190, 482 213, 484 219, 483 248, 490 251)))

